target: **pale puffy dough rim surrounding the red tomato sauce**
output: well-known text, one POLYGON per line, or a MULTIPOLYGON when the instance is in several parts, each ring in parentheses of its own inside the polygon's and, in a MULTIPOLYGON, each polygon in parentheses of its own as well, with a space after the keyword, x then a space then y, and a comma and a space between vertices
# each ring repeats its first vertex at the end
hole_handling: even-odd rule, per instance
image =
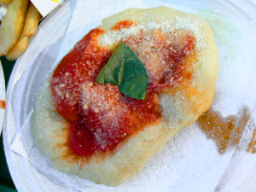
POLYGON ((95 183, 119 185, 143 169, 144 164, 160 151, 165 144, 183 127, 193 123, 201 113, 212 104, 215 93, 215 82, 218 69, 218 50, 214 43, 212 30, 207 23, 195 15, 189 15, 169 8, 127 9, 118 15, 102 20, 102 29, 108 31, 120 20, 131 20, 137 25, 148 22, 169 20, 174 22, 176 16, 184 19, 195 19, 201 25, 201 32, 207 46, 198 51, 199 61, 188 58, 188 62, 196 62, 192 82, 183 82, 180 86, 160 95, 160 107, 163 119, 154 125, 148 125, 143 131, 129 138, 116 152, 99 160, 97 156, 90 164, 79 167, 78 163, 64 160, 61 156, 65 148, 58 146, 67 143, 68 125, 65 119, 56 113, 55 105, 49 89, 49 82, 44 83, 38 91, 34 113, 32 115, 31 132, 38 148, 51 160, 57 171, 68 172, 79 177, 90 179, 95 183))

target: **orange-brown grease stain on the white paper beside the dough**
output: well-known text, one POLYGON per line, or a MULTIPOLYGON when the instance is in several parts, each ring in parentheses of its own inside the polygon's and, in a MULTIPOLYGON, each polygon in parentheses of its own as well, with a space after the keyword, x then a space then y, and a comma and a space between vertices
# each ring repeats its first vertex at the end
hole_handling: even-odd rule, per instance
POLYGON ((207 137, 217 144, 218 152, 223 154, 229 145, 236 146, 239 143, 249 118, 247 108, 241 109, 237 116, 231 115, 227 118, 210 108, 197 122, 207 137))

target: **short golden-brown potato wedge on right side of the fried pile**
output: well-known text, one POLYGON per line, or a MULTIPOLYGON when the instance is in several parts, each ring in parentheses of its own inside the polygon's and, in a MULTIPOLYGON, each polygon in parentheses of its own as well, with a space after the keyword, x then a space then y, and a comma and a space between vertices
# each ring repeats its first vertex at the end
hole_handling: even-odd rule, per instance
POLYGON ((30 3, 26 13, 23 35, 27 37, 35 35, 38 30, 39 20, 41 20, 41 18, 42 16, 38 9, 36 9, 36 7, 30 3))

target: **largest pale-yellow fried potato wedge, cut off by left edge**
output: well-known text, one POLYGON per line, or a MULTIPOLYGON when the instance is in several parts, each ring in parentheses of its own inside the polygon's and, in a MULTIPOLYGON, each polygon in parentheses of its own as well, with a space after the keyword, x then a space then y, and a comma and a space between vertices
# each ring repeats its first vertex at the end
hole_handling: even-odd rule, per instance
POLYGON ((23 31, 28 0, 13 0, 8 5, 7 14, 0 30, 0 55, 12 49, 23 31))

